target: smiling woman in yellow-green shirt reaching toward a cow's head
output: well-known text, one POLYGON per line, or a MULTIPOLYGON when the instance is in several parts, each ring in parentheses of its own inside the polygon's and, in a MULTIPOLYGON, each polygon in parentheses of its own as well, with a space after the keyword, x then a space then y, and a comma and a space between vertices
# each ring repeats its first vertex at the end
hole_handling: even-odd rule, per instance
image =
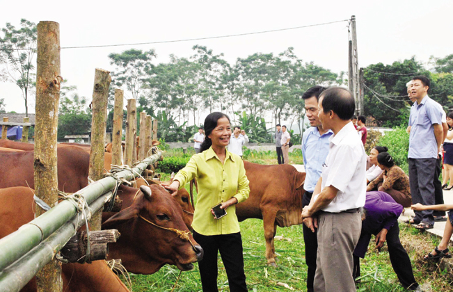
POLYGON ((198 195, 193 214, 193 238, 204 250, 198 263, 203 291, 217 289, 217 253, 220 252, 230 291, 247 291, 242 254, 242 238, 235 204, 248 198, 250 188, 242 159, 228 152, 231 125, 228 115, 215 112, 205 119, 206 138, 200 153, 164 185, 175 195, 179 188, 196 177, 198 195), (213 206, 221 204, 227 215, 216 218, 213 206))

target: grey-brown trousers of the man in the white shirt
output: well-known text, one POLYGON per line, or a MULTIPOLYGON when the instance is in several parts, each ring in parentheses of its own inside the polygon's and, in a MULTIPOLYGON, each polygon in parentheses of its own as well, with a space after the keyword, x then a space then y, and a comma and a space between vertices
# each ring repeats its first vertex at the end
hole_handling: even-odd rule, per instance
POLYGON ((360 238, 360 213, 319 214, 316 292, 356 291, 352 253, 360 238))

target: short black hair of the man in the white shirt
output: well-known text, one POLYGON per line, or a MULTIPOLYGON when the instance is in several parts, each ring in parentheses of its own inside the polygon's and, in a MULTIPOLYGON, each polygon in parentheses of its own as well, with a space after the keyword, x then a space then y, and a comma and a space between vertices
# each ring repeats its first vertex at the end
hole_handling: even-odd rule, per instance
POLYGON ((341 120, 351 120, 356 111, 356 102, 352 93, 346 88, 333 86, 324 90, 319 98, 322 99, 324 113, 333 111, 341 120))

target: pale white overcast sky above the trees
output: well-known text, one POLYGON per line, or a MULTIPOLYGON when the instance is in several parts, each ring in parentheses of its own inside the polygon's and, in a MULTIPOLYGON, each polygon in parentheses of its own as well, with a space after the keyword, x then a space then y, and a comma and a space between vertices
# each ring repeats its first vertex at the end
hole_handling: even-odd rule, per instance
MULTIPOLYGON (((60 24, 61 47, 131 44, 205 38, 219 35, 286 29, 350 19, 356 15, 359 67, 391 64, 415 56, 453 54, 453 1, 8 1, 2 4, 0 28, 7 22, 19 27, 25 18, 38 24, 60 24), (17 3, 20 3, 18 7, 17 3)), ((288 47, 304 62, 333 72, 347 72, 348 22, 273 33, 166 44, 61 49, 61 76, 77 86, 79 95, 93 95, 95 68, 113 70, 108 55, 126 49, 154 49, 154 63, 168 56, 193 55, 195 44, 235 63, 257 52, 279 54, 288 47)), ((1 35, 1 33, 0 33, 1 35)), ((2 35, 3 36, 3 35, 2 35)), ((429 65, 427 64, 427 67, 429 65)), ((125 92, 126 97, 130 97, 125 92)), ((0 81, 0 99, 6 111, 24 113, 24 99, 14 83, 0 81)), ((34 113, 35 97, 29 100, 34 113)))

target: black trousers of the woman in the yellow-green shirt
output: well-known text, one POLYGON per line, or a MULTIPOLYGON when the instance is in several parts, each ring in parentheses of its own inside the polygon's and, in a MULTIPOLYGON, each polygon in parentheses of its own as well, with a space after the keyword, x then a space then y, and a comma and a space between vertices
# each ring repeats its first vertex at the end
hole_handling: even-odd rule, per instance
POLYGON ((204 292, 218 292, 217 253, 220 252, 228 276, 231 292, 246 292, 246 274, 242 254, 241 233, 205 236, 193 231, 193 239, 201 245, 205 254, 198 263, 204 292))

